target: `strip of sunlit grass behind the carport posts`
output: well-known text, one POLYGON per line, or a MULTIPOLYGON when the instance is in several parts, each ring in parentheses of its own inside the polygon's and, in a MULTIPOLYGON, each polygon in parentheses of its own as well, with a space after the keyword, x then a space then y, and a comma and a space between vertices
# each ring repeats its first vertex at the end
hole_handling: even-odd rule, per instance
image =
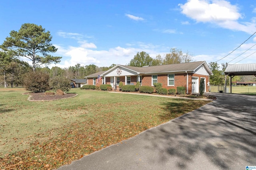
MULTIPOLYGON (((224 92, 224 86, 220 86, 219 90, 223 90, 224 92)), ((218 86, 211 86, 211 92, 218 92, 218 86)), ((230 93, 229 86, 227 86, 227 92, 230 93)), ((232 86, 232 93, 256 95, 256 86, 232 86)))

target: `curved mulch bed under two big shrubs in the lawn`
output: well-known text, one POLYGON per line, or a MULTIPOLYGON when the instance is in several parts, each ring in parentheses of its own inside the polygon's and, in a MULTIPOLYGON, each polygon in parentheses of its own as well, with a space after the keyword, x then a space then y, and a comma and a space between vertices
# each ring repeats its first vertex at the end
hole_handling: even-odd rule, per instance
POLYGON ((64 95, 46 95, 44 92, 40 93, 24 93, 26 95, 29 95, 28 100, 30 101, 51 101, 51 100, 61 100, 61 99, 66 99, 66 98, 72 98, 77 96, 78 94, 76 93, 67 93, 64 95))

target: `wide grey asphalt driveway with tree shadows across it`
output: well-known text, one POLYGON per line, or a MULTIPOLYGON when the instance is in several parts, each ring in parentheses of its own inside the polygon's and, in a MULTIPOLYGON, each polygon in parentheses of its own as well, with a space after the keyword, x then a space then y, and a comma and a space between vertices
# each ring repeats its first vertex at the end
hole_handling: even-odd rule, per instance
POLYGON ((256 96, 219 94, 200 109, 59 170, 245 170, 256 166, 256 96))

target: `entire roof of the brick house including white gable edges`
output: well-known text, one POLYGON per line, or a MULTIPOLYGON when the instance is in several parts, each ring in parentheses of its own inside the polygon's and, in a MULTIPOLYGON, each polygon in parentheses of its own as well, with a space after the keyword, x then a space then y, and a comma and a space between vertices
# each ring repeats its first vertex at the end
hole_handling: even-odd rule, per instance
POLYGON ((180 63, 180 64, 167 64, 167 65, 159 65, 159 66, 144 66, 144 67, 134 67, 134 66, 125 66, 117 64, 113 68, 104 72, 102 75, 104 76, 108 72, 116 69, 117 67, 127 68, 128 70, 132 70, 134 72, 138 72, 139 74, 154 74, 154 73, 167 73, 167 72, 194 72, 197 68, 204 65, 209 74, 212 74, 209 66, 205 61, 197 61, 190 63, 180 63))

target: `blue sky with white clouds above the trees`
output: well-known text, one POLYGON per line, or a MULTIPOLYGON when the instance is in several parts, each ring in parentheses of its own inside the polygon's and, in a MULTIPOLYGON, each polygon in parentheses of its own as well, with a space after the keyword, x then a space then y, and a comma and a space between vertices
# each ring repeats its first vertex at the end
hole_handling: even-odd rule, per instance
MULTIPOLYGON (((128 64, 137 52, 155 58, 171 48, 209 63, 256 32, 256 1, 6 0, 0 4, 0 23, 0 43, 23 23, 42 25, 58 48, 53 55, 62 57, 56 64, 61 68, 128 64)), ((255 44, 256 34, 218 63, 256 63, 255 44)))

